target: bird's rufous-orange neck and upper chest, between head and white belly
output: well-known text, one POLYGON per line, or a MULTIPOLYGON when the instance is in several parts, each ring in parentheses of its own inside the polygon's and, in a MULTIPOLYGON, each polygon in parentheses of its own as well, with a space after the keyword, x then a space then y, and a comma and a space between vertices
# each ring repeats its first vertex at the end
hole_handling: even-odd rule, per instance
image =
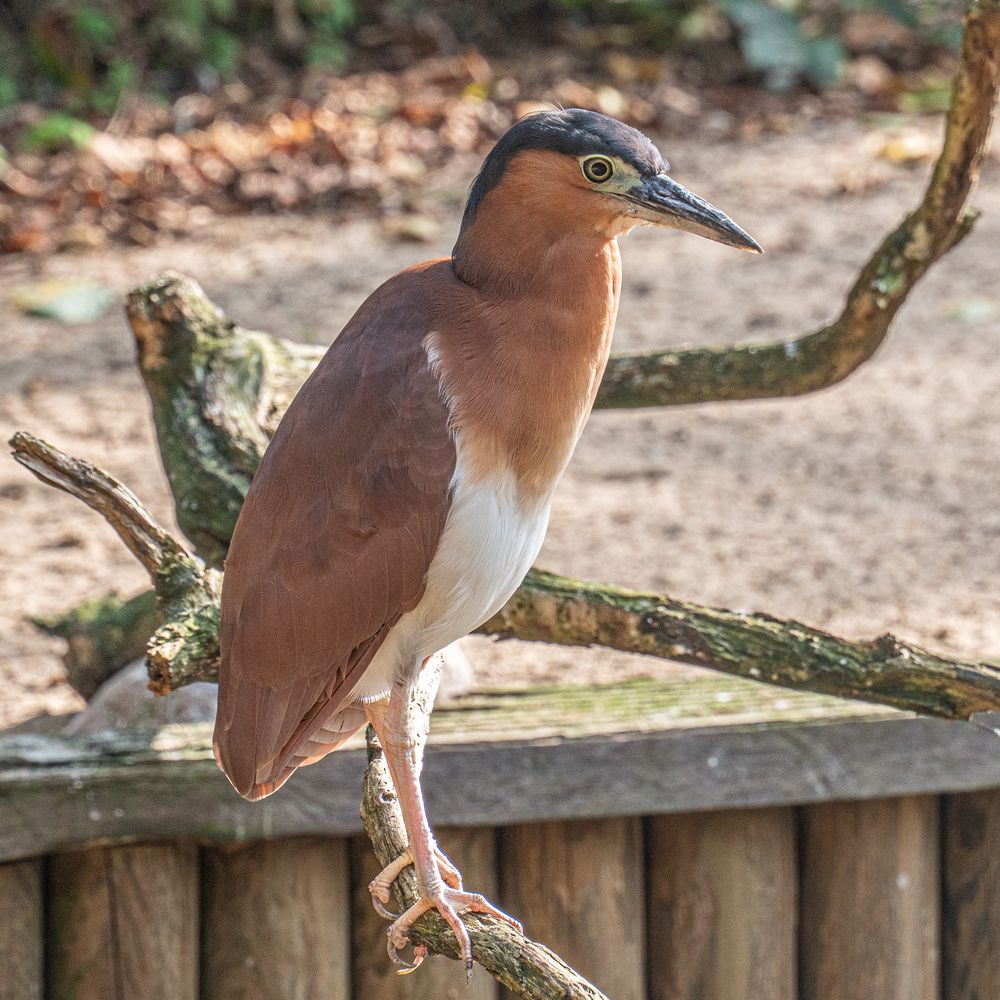
POLYGON ((452 266, 465 292, 434 346, 470 471, 508 468, 547 502, 604 373, 621 265, 613 235, 519 216, 477 214, 462 234, 452 266))

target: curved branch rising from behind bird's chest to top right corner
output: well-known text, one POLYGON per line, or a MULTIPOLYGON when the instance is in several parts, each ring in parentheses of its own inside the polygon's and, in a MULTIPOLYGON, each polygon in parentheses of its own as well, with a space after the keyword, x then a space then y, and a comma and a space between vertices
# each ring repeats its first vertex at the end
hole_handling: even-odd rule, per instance
POLYGON ((834 385, 864 364, 927 269, 972 228, 974 216, 966 214, 966 205, 996 113, 998 53, 997 0, 974 2, 965 16, 944 147, 927 191, 864 266, 836 320, 793 340, 618 356, 608 367, 597 405, 800 396, 834 385))

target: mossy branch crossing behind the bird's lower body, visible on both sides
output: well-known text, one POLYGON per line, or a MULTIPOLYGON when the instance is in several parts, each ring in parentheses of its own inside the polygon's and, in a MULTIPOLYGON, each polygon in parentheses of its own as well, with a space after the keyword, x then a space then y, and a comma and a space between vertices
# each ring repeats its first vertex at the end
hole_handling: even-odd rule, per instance
MULTIPOLYGON (((159 561, 143 560, 154 579, 164 622, 147 647, 153 689, 165 693, 194 680, 215 680, 222 574, 206 569, 171 539, 106 472, 28 434, 15 435, 11 444, 14 457, 35 475, 79 497, 116 528, 141 525, 144 536, 159 539, 159 561)), ((119 533, 132 539, 128 531, 119 533)), ((569 646, 605 646, 944 719, 1000 710, 1000 668, 987 663, 948 660, 892 636, 852 642, 799 622, 538 570, 528 574, 508 605, 481 631, 569 646)))

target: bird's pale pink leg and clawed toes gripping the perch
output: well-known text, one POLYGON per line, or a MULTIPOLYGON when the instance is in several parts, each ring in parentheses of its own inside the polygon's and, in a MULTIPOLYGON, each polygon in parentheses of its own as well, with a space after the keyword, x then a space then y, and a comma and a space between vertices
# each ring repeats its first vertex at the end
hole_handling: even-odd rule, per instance
MULTIPOLYGON (((390 865, 383 875, 379 876, 373 885, 373 900, 379 899, 383 876, 388 878, 396 875, 412 859, 417 876, 417 893, 419 899, 409 909, 398 916, 389 927, 389 955, 399 965, 405 966, 405 971, 411 971, 412 966, 406 966, 397 954, 409 940, 409 929, 414 921, 428 910, 436 909, 451 927, 458 939, 459 951, 465 964, 466 975, 472 975, 472 945, 469 933, 462 923, 459 913, 489 913, 494 917, 512 924, 520 930, 520 924, 512 917, 498 910, 478 893, 466 892, 458 885, 447 884, 450 879, 443 877, 439 859, 443 856, 434 841, 427 814, 424 811, 423 795, 420 791, 420 771, 423 766, 424 745, 427 742, 429 726, 429 706, 424 708, 416 703, 414 686, 408 681, 401 681, 393 686, 387 699, 369 702, 365 708, 368 720, 382 744, 389 774, 396 788, 400 811, 403 814, 403 825, 406 827, 409 847, 396 862, 390 865), (406 861, 403 861, 406 858, 406 861)), ((448 868, 457 876, 457 871, 448 862, 448 868)), ((449 872, 449 874, 451 873, 449 872)), ((391 885, 391 881, 388 883, 391 885)), ((380 909, 376 904, 376 909, 380 909)), ((384 909, 384 907, 382 908, 384 909)), ((380 910, 381 912, 381 910, 380 910)), ((419 965, 423 959, 423 950, 418 950, 419 965)))

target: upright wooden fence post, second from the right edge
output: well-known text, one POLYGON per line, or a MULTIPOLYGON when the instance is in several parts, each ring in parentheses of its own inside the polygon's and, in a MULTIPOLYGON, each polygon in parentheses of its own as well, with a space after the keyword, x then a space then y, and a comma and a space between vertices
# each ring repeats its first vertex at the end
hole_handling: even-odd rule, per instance
POLYGON ((802 1000, 937 1000, 938 820, 931 797, 805 810, 802 1000))

